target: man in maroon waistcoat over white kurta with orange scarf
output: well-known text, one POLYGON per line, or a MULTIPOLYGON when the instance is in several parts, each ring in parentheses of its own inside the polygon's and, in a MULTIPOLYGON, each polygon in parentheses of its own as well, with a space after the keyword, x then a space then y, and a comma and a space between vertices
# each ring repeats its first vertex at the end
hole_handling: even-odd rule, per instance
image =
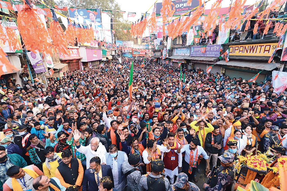
POLYGON ((164 153, 164 173, 170 178, 170 184, 173 184, 174 176, 178 175, 178 171, 181 169, 182 166, 182 154, 176 152, 177 149, 180 147, 180 144, 174 141, 174 133, 168 133, 167 140, 170 146, 170 151, 168 153, 164 153))

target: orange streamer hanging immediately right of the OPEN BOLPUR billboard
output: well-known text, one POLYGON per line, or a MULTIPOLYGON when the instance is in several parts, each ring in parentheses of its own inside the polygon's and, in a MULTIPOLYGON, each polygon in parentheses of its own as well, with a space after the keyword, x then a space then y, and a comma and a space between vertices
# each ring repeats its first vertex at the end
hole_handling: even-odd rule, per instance
POLYGON ((215 1, 210 9, 210 12, 207 15, 207 18, 204 20, 204 32, 207 32, 208 30, 214 30, 216 27, 216 24, 214 24, 214 19, 217 19, 217 16, 219 14, 219 10, 221 8, 221 2, 222 0, 215 1))

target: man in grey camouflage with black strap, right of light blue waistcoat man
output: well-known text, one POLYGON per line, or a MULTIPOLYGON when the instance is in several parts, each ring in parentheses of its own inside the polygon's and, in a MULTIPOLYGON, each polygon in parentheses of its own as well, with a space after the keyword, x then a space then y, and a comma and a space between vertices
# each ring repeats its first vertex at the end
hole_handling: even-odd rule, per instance
MULTIPOLYGON (((137 168, 140 164, 141 156, 133 153, 122 165, 123 173, 127 176, 127 191, 138 191, 138 183, 141 178, 141 171, 137 168)), ((143 164, 143 163, 142 163, 143 164)))

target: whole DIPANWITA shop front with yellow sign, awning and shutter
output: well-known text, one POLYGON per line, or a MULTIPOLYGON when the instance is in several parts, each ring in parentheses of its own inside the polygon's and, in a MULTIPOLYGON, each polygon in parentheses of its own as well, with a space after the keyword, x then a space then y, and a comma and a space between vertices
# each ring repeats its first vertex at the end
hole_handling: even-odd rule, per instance
MULTIPOLYGON (((262 41, 261 41, 262 42, 262 41)), ((250 42, 249 42, 250 43, 250 42)), ((268 60, 277 47, 278 42, 266 42, 257 44, 230 44, 229 61, 219 61, 216 65, 221 65, 222 72, 232 77, 242 77, 249 80, 261 71, 257 77, 257 82, 264 82, 272 74, 272 70, 281 67, 280 59, 273 63, 268 60)))

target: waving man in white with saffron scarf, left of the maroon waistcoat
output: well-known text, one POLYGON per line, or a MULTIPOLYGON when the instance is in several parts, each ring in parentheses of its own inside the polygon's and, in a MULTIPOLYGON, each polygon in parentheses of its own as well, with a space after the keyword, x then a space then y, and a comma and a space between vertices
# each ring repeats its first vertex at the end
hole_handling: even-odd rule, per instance
POLYGON ((146 144, 146 149, 143 151, 143 159, 144 163, 146 164, 146 171, 150 172, 150 162, 154 159, 161 159, 162 153, 167 153, 170 151, 170 145, 168 144, 168 140, 164 139, 163 142, 166 147, 157 145, 155 140, 149 139, 148 143, 146 144))

